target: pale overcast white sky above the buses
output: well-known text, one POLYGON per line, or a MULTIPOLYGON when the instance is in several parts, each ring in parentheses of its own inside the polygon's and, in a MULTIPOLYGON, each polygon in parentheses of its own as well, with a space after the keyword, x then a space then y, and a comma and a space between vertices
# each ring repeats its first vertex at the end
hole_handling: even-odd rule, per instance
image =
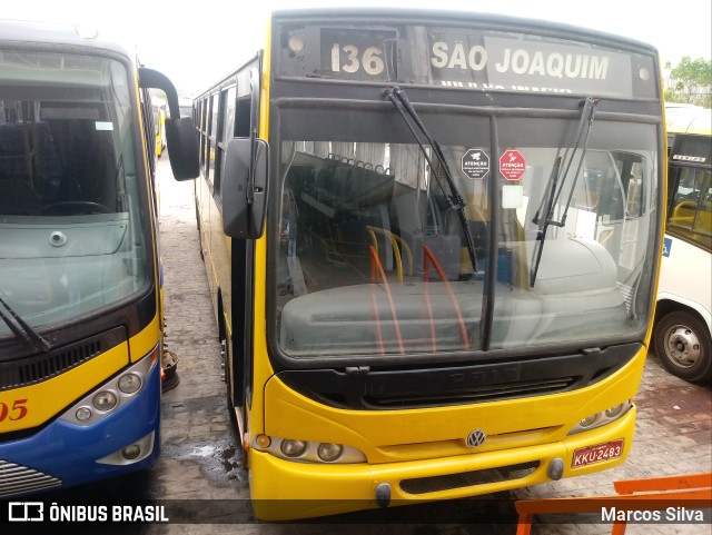
POLYGON ((393 7, 492 12, 626 36, 657 48, 663 65, 712 57, 710 0, 2 0, 0 18, 90 24, 136 49, 185 96, 197 93, 263 47, 269 11, 310 7, 393 7))

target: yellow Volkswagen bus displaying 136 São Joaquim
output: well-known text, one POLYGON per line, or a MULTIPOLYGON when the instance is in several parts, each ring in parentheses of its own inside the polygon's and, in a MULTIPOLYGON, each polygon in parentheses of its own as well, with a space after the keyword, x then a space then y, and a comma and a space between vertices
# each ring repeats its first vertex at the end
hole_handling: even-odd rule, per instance
POLYGON ((194 101, 256 514, 623 463, 662 244, 655 49, 468 12, 278 11, 268 29, 194 101))

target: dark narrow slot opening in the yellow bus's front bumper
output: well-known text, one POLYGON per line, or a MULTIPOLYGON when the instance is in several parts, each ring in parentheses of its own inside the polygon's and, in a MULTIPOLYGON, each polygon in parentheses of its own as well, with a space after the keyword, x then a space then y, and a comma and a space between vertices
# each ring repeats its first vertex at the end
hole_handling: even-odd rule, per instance
POLYGON ((486 485, 490 483, 521 479, 532 474, 538 468, 538 460, 521 463, 498 468, 486 468, 482 470, 461 472, 443 476, 416 477, 414 479, 403 479, 400 489, 407 494, 428 494, 453 488, 464 488, 475 485, 486 485))

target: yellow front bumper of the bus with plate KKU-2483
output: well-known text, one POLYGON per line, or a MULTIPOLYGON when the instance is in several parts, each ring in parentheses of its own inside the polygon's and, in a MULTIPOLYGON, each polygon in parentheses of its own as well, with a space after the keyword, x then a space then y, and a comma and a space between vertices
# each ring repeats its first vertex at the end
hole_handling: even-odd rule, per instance
MULTIPOLYGON (((630 453, 635 407, 617 420, 562 442, 487 453, 402 463, 295 463, 250 450, 250 491, 259 518, 309 518, 374 508, 497 493, 552 480, 552 464, 562 477, 612 468, 630 453), (620 457, 573 468, 574 452, 623 439, 620 457), (384 501, 385 489, 388 499, 384 501)), ((554 478, 558 478, 556 475, 554 478)))

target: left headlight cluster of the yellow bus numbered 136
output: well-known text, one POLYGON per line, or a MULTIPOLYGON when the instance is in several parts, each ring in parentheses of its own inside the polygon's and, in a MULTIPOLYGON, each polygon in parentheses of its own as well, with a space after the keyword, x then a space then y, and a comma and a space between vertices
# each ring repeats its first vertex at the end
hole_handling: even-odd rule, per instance
POLYGON ((314 443, 295 438, 257 435, 253 447, 275 457, 304 463, 365 463, 366 456, 353 446, 335 443, 314 443))

